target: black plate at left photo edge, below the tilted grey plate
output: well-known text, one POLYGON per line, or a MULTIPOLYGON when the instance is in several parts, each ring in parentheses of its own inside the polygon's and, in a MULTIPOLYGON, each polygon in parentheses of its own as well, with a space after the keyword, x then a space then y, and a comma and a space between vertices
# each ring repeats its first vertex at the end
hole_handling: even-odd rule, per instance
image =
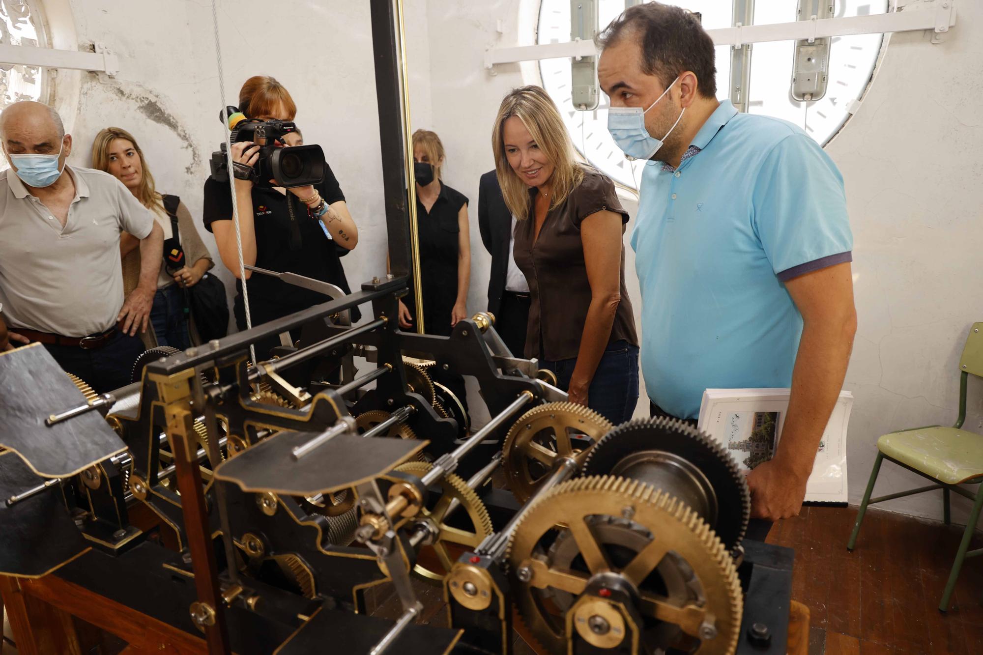
POLYGON ((7 506, 7 499, 44 483, 24 460, 0 453, 0 573, 40 577, 88 551, 86 539, 51 486, 7 506))

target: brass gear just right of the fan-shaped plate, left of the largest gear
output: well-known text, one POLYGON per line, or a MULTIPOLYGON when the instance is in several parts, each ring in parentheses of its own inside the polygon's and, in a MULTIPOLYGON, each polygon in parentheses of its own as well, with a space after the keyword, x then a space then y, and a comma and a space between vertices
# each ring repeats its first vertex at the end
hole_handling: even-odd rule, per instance
MULTIPOLYGON (((434 468, 433 465, 427 462, 410 461, 397 466, 396 470, 403 473, 410 473, 417 477, 423 477, 432 468, 434 468)), ((436 583, 443 580, 443 577, 450 571, 451 566, 454 566, 454 561, 456 560, 456 558, 447 552, 448 543, 474 550, 494 531, 492 529, 492 518, 489 516, 488 509, 485 508, 485 504, 482 503, 478 495, 468 487, 468 484, 464 480, 453 473, 448 473, 440 480, 439 485, 443 490, 440 500, 433 507, 421 507, 420 513, 414 517, 414 520, 422 518, 431 522, 437 531, 434 544, 425 546, 424 549, 433 549, 439 568, 431 570, 418 564, 413 567, 413 571, 425 580, 436 583), (474 528, 473 532, 452 527, 443 522, 447 509, 454 499, 461 504, 461 508, 458 511, 467 512, 468 518, 471 520, 471 525, 474 528)))

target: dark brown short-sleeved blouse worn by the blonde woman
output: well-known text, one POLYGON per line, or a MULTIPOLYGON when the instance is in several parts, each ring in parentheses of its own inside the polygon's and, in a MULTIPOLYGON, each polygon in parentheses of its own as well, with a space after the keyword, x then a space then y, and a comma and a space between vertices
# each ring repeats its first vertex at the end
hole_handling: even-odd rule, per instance
MULTIPOLYGON (((515 225, 515 264, 525 273, 532 298, 525 355, 549 361, 575 359, 591 306, 580 223, 602 209, 621 214, 622 223, 627 223, 628 212, 621 207, 610 178, 585 168, 583 181, 559 207, 549 210, 537 240, 532 216, 538 193, 535 187, 530 189, 530 218, 516 221, 515 225)), ((635 317, 624 284, 623 243, 620 294, 607 342, 625 340, 637 346, 635 317)))

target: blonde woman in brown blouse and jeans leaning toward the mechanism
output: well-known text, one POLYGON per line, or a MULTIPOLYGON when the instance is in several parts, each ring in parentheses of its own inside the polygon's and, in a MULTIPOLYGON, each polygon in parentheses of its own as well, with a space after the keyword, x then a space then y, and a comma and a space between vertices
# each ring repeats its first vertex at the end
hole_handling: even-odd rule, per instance
POLYGON ((627 421, 638 402, 638 335, 624 282, 628 213, 614 184, 577 161, 539 87, 505 96, 492 149, 531 293, 526 357, 540 358, 572 402, 627 421))

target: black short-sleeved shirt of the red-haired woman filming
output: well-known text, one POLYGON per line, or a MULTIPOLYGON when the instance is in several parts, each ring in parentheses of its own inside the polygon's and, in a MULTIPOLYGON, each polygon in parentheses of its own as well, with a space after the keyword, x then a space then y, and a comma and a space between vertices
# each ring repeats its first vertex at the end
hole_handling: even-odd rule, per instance
MULTIPOLYGON (((324 179, 315 185, 320 197, 331 205, 345 200, 330 166, 324 167, 324 179)), ((209 177, 204 182, 204 227, 211 231, 214 220, 231 220, 232 197, 228 182, 209 177)), ((256 226, 256 266, 277 272, 295 272, 330 282, 351 293, 339 256, 348 251, 329 239, 317 218, 291 193, 286 196, 274 189, 253 187, 253 222, 256 226), (289 200, 288 200, 289 199, 289 200), (288 202, 293 203, 291 220, 288 202)), ((247 280, 253 325, 266 323, 302 309, 327 302, 323 294, 287 284, 275 277, 253 273, 247 280)), ((242 301, 242 280, 236 280, 236 324, 246 327, 242 301)), ((358 320, 357 308, 352 319, 358 320)))

